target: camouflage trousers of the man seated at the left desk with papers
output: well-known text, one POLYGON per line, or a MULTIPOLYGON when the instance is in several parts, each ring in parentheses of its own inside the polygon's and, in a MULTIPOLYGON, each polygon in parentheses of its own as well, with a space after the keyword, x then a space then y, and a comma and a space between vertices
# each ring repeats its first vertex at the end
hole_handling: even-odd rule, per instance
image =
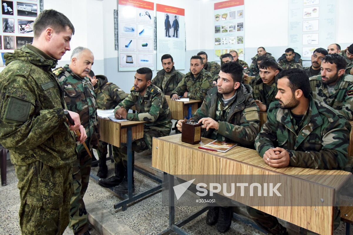
MULTIPOLYGON (((157 130, 144 130, 143 131, 143 138, 136 140, 132 142, 132 151, 135 151, 137 153, 140 153, 144 150, 147 149, 152 149, 152 138, 153 137, 162 137, 162 136, 167 136, 168 134, 164 134, 161 131, 157 130)), ((113 154, 114 156, 114 162, 115 163, 120 163, 124 165, 125 168, 127 168, 127 147, 123 146, 120 148, 116 148, 118 150, 117 154, 113 154)), ((132 157, 132 164, 134 164, 134 157, 132 157)))

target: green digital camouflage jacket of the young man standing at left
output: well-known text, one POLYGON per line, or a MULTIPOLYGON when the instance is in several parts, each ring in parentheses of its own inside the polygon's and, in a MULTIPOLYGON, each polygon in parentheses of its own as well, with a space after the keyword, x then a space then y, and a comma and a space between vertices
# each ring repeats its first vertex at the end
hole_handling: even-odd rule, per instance
POLYGON ((76 140, 66 123, 56 60, 30 44, 5 54, 0 74, 0 143, 14 165, 41 161, 59 168, 76 159, 76 140))

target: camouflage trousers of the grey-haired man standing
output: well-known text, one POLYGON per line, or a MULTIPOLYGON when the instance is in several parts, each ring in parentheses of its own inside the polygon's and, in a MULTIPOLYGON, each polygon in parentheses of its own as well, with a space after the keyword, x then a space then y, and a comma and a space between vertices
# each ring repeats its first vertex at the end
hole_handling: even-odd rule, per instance
MULTIPOLYGON (((88 141, 86 141, 88 146, 88 141)), ((92 151, 92 150, 91 150, 92 151)), ((83 196, 88 187, 89 175, 91 172, 92 159, 84 149, 83 145, 77 146, 79 153, 73 163, 72 180, 73 193, 71 197, 70 228, 75 235, 81 235, 88 230, 88 215, 83 202, 83 196)))

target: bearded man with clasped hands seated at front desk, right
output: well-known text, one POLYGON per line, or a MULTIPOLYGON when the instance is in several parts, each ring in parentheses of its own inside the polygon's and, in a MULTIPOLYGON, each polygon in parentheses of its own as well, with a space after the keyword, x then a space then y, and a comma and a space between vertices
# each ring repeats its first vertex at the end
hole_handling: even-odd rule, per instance
MULTIPOLYGON (((275 168, 348 170, 351 130, 348 120, 313 99, 309 78, 303 70, 283 70, 277 78, 278 101, 271 103, 267 122, 255 140, 255 148, 264 162, 275 168)), ((288 234, 276 217, 250 207, 247 210, 268 234, 288 234)), ((339 222, 339 209, 336 208, 334 228, 339 222)), ((312 232, 301 229, 301 234, 312 232)))

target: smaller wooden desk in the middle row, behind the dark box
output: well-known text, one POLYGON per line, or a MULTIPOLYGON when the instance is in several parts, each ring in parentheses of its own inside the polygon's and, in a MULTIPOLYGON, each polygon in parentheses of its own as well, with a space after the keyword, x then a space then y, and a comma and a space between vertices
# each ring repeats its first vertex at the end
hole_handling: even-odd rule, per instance
POLYGON ((184 119, 184 117, 192 117, 193 113, 197 110, 197 104, 201 102, 201 100, 192 99, 190 99, 189 102, 175 101, 168 95, 166 95, 166 100, 172 112, 172 119, 175 120, 181 120, 184 119))

